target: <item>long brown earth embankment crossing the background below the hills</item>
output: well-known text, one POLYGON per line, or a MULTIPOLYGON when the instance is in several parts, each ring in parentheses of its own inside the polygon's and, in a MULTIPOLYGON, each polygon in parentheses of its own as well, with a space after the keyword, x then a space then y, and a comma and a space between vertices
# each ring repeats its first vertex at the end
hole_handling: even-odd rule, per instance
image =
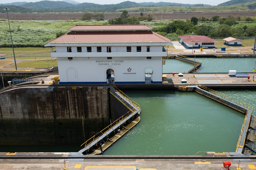
MULTIPOLYGON (((148 12, 143 12, 144 15, 148 12)), ((120 17, 121 12, 104 13, 105 20, 110 20, 120 17)), ((192 17, 206 17, 211 18, 215 15, 220 17, 256 17, 256 11, 238 11, 238 12, 153 12, 157 19, 172 19, 172 20, 186 20, 192 17)), ((9 13, 10 20, 79 20, 83 13, 9 13)), ((132 17, 134 15, 140 15, 140 12, 129 13, 132 17)), ((6 13, 0 13, 0 18, 7 19, 6 13)))

